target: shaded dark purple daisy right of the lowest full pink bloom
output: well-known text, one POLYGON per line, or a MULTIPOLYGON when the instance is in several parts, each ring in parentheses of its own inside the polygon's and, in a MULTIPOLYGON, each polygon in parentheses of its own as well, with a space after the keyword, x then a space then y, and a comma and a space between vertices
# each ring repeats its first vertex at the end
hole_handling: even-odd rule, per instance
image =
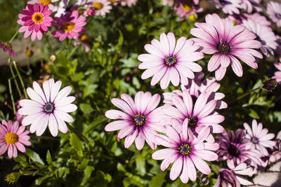
POLYGON ((245 135, 246 132, 241 129, 238 129, 235 134, 233 130, 218 134, 218 144, 220 145, 217 151, 220 157, 218 160, 226 160, 230 169, 242 162, 249 162, 254 167, 262 163, 261 153, 254 149, 247 149, 247 143, 243 143, 245 135))

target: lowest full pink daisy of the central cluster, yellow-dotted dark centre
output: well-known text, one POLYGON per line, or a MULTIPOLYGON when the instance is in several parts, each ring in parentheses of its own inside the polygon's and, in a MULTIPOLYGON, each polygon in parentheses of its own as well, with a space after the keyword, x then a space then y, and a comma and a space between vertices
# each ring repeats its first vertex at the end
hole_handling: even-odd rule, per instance
POLYGON ((193 136, 188 137, 188 124, 187 120, 182 125, 182 133, 178 134, 171 126, 165 126, 166 134, 156 135, 158 144, 168 147, 156 151, 152 154, 155 160, 163 160, 161 170, 164 171, 171 163, 174 162, 170 171, 170 179, 174 181, 179 175, 183 183, 196 180, 196 169, 203 174, 210 174, 211 169, 204 160, 214 161, 218 155, 213 151, 204 148, 204 140, 210 134, 209 127, 204 127, 200 131, 200 135, 196 138, 193 136))

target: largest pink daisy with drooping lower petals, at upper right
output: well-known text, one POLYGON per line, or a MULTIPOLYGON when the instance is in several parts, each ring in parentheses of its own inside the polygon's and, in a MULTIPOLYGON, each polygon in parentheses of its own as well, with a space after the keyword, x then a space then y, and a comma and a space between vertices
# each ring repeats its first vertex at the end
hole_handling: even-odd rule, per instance
POLYGON ((254 57, 263 58, 263 55, 253 48, 261 48, 261 42, 254 40, 256 35, 244 26, 234 26, 230 19, 221 19, 216 14, 206 15, 206 23, 196 22, 195 26, 190 34, 199 39, 192 40, 203 47, 203 53, 214 54, 208 62, 208 71, 216 71, 217 81, 225 76, 229 64, 237 76, 242 76, 242 65, 237 58, 258 68, 254 57))

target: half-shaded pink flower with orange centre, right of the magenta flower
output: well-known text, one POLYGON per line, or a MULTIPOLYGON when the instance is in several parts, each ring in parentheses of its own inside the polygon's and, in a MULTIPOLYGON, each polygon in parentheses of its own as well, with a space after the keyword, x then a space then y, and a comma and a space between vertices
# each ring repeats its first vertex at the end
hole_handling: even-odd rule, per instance
POLYGON ((83 26, 86 25, 86 18, 83 15, 78 16, 78 11, 72 11, 72 13, 68 12, 61 15, 60 18, 55 17, 53 25, 60 27, 60 29, 53 31, 53 36, 58 38, 59 41, 63 41, 66 37, 69 39, 78 37, 79 32, 83 31, 83 26))

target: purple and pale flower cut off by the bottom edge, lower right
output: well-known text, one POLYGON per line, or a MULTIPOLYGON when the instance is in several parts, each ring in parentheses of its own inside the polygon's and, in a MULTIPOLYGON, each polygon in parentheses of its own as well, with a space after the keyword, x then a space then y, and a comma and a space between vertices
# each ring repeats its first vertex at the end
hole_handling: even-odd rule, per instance
POLYGON ((252 182, 240 176, 252 176, 253 174, 256 174, 256 169, 249 167, 249 165, 244 162, 233 169, 223 168, 218 172, 218 179, 216 180, 214 187, 240 187, 240 184, 245 186, 253 185, 252 182))

